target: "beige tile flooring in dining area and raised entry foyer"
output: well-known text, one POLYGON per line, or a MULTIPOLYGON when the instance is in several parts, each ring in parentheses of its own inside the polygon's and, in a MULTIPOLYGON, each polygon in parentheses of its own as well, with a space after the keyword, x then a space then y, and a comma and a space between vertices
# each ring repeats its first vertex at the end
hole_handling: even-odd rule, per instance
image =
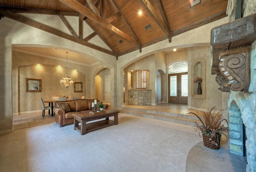
MULTIPOLYGON (((124 107, 154 110, 160 112, 171 112, 177 114, 187 114, 188 112, 196 112, 196 110, 194 109, 188 109, 188 106, 186 104, 162 103, 156 106, 138 106, 125 104, 124 107)), ((42 117, 42 112, 33 112, 29 114, 20 114, 13 116, 14 131, 51 123, 55 123, 55 117, 50 116, 48 114, 48 111, 45 111, 44 117, 42 117)))

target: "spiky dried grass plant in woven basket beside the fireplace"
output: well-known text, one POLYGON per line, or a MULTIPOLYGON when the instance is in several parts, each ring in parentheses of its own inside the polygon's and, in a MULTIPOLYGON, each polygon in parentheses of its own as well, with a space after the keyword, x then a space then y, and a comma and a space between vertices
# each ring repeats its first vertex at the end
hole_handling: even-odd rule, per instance
POLYGON ((188 113, 194 114, 201 122, 194 122, 194 128, 196 128, 195 131, 199 130, 199 135, 202 133, 204 146, 217 150, 220 148, 222 134, 228 138, 228 120, 226 120, 225 115, 223 116, 224 111, 217 110, 214 106, 213 108, 199 111, 197 114, 188 113))

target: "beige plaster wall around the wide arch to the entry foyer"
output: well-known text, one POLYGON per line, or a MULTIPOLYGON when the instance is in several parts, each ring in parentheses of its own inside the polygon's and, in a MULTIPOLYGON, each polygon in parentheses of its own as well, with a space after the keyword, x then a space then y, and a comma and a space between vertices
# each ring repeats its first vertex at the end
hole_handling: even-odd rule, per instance
MULTIPOLYGON (((204 26, 190 30, 188 32, 185 32, 183 34, 174 36, 174 37, 172 37, 172 42, 168 42, 168 40, 163 40, 156 44, 142 48, 142 52, 140 52, 140 53, 138 51, 134 51, 134 52, 130 52, 129 54, 125 54, 123 56, 118 57, 118 64, 117 64, 117 68, 119 70, 117 72, 118 83, 120 82, 123 84, 124 69, 139 59, 150 56, 157 52, 161 52, 163 50, 170 50, 173 48, 210 46, 211 29, 216 26, 219 26, 221 24, 227 23, 227 22, 228 22, 228 17, 225 17, 220 20, 214 21, 212 23, 206 24, 204 26)), ((166 64, 168 65, 169 62, 166 61, 166 64)), ((121 108, 122 104, 123 104, 121 101, 122 96, 119 96, 119 95, 123 94, 122 84, 118 85, 118 88, 117 88, 117 93, 118 93, 117 94, 118 95, 117 106, 118 106, 118 108, 121 108)))

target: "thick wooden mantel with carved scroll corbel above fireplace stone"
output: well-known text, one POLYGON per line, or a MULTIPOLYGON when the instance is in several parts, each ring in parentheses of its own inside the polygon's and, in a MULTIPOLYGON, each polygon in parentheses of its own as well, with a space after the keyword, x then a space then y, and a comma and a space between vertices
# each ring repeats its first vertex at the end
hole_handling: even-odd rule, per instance
POLYGON ((256 14, 212 29, 212 74, 216 74, 219 90, 248 92, 251 45, 255 40, 256 14))

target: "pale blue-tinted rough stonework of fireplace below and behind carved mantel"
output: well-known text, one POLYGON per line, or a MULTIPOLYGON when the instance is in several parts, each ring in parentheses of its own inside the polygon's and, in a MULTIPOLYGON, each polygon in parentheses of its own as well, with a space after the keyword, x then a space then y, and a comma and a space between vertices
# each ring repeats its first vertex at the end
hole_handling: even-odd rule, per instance
POLYGON ((249 92, 231 92, 228 103, 230 152, 243 155, 242 124, 246 128, 246 172, 256 171, 256 42, 250 58, 249 92))

